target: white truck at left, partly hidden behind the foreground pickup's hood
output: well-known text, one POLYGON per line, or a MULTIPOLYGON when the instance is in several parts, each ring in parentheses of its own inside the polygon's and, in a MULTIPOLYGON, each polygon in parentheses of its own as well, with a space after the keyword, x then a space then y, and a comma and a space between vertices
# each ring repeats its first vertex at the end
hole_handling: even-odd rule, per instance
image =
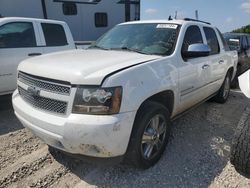
POLYGON ((12 93, 18 64, 29 57, 74 49, 65 22, 33 18, 0 18, 0 95, 12 93))

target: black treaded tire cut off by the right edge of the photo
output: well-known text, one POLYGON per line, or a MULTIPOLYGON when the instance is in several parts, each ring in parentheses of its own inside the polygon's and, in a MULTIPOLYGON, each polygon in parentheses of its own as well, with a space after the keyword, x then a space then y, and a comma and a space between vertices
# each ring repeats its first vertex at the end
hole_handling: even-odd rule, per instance
MULTIPOLYGON (((250 109, 248 109, 250 113, 250 109)), ((230 161, 235 169, 243 174, 250 175, 250 115, 241 117, 231 147, 230 161)))

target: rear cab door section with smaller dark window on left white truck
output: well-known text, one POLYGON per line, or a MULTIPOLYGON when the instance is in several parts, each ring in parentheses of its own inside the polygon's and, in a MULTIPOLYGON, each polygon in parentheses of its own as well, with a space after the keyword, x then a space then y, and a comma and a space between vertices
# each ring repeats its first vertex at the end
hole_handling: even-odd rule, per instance
POLYGON ((72 41, 68 41, 63 25, 41 22, 39 28, 45 53, 72 49, 72 41))

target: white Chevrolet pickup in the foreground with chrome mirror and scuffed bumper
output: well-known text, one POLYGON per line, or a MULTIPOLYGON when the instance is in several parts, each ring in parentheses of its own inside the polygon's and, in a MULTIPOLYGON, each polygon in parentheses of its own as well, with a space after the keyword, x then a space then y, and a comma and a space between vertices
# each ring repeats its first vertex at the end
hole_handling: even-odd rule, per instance
POLYGON ((87 50, 23 61, 15 114, 48 145, 71 154, 154 165, 171 120, 212 97, 226 102, 237 52, 208 23, 137 21, 87 50))

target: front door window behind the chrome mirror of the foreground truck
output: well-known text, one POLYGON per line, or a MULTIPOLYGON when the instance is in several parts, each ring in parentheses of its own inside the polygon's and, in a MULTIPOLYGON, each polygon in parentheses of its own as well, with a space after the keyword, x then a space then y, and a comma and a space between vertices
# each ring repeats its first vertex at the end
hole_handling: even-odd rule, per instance
POLYGON ((200 28, 198 26, 189 26, 183 40, 182 52, 188 50, 189 45, 203 43, 200 28))

